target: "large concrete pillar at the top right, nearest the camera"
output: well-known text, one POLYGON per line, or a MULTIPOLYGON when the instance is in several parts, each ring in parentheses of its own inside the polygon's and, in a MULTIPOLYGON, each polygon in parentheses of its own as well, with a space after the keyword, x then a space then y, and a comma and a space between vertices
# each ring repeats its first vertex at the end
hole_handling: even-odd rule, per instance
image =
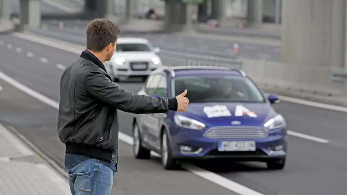
POLYGON ((346 0, 283 0, 281 61, 344 66, 346 0))

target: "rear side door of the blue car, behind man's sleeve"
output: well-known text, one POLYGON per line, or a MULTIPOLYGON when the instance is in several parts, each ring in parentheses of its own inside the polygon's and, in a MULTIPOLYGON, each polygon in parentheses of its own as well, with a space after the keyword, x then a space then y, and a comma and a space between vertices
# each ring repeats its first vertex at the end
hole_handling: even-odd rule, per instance
MULTIPOLYGON (((146 86, 145 93, 148 96, 155 95, 156 88, 160 82, 161 74, 151 75, 151 82, 146 86)), ((150 79, 150 78, 149 78, 150 79)), ((155 147, 153 138, 153 131, 156 128, 156 121, 153 114, 142 114, 142 125, 144 130, 144 141, 147 142, 151 147, 155 147)))

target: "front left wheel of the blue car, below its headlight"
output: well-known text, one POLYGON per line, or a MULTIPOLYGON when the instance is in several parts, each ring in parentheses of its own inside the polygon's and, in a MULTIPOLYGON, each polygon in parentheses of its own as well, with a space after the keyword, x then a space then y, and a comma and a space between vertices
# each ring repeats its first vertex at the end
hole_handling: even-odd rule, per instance
POLYGON ((176 160, 171 155, 171 146, 166 130, 163 131, 161 136, 161 164, 167 170, 173 170, 178 167, 176 160))

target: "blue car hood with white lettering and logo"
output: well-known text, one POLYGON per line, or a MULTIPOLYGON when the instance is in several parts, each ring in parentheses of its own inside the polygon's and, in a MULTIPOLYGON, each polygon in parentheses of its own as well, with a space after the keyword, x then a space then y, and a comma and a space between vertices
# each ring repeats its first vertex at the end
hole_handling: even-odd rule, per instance
POLYGON ((206 126, 262 126, 277 115, 268 103, 190 103, 184 112, 177 114, 203 122, 206 126))

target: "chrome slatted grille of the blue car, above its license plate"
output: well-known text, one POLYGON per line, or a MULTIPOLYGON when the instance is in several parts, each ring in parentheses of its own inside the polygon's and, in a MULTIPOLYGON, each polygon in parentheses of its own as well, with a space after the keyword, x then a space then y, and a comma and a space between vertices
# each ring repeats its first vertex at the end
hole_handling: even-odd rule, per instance
POLYGON ((254 126, 220 126, 212 127, 203 136, 210 139, 261 139, 268 136, 268 132, 261 127, 254 126))

